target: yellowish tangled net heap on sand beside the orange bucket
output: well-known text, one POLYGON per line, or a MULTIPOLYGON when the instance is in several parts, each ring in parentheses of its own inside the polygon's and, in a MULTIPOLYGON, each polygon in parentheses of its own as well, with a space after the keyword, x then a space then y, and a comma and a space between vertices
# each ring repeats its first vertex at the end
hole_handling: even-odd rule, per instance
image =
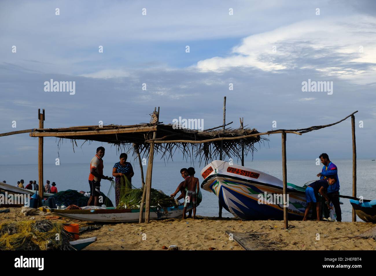
POLYGON ((0 250, 75 250, 71 240, 62 223, 30 220, 0 224, 0 250))

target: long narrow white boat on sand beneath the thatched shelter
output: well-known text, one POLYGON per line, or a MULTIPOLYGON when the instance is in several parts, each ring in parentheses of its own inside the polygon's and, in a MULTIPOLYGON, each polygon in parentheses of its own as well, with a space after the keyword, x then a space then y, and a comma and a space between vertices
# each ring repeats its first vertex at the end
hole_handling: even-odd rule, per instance
MULTIPOLYGON (((187 212, 192 208, 187 208, 187 212)), ((107 207, 103 209, 64 210, 39 207, 39 210, 51 213, 59 217, 77 219, 89 222, 138 222, 139 209, 115 209, 107 207)), ((145 213, 145 211, 144 211, 145 213)), ((167 208, 150 208, 150 220, 171 219, 183 215, 183 206, 167 208)))

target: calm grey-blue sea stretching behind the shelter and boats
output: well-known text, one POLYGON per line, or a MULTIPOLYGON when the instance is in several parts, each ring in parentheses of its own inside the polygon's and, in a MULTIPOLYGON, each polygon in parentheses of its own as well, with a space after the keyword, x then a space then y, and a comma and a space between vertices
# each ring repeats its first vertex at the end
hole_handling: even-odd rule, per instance
MULTIPOLYGON (((109 163, 104 160, 103 174, 111 176, 112 167, 118 160, 109 163)), ((132 184, 135 187, 141 187, 141 173, 138 162, 131 161, 135 175, 132 178, 132 184)), ((236 161, 234 162, 236 164, 236 161)), ((306 182, 317 180, 317 173, 321 172, 322 164, 316 165, 315 160, 288 160, 287 161, 287 182, 303 186, 306 182)), ((340 180, 340 194, 352 196, 352 160, 333 160, 338 167, 338 178, 340 180)), ((157 160, 153 165, 152 187, 162 190, 166 195, 173 193, 178 184, 183 181, 180 175, 180 169, 185 167, 194 167, 196 169, 196 177, 203 178, 200 171, 204 167, 198 163, 188 163, 183 161, 160 161, 157 160)), ((261 170, 262 172, 273 175, 282 179, 282 162, 280 160, 249 160, 245 161, 245 166, 261 170)), ((144 174, 146 174, 146 165, 143 166, 144 174)), ((61 190, 77 190, 89 191, 89 163, 77 164, 45 164, 44 165, 44 182, 46 180, 56 182, 58 191, 61 190)), ((145 176, 144 176, 145 177, 145 176)), ((25 184, 30 180, 38 182, 38 165, 37 164, 16 164, 16 165, 0 165, 0 181, 6 180, 7 184, 16 185, 17 181, 24 179, 25 184)), ((357 196, 363 196, 364 199, 376 199, 376 161, 357 160, 357 196)), ((102 180, 101 191, 107 195, 112 202, 115 202, 115 192, 110 189, 111 183, 108 180, 102 180)), ((180 194, 180 193, 179 193, 180 194)), ((179 195, 178 194, 178 195, 179 195)), ((203 200, 197 207, 197 215, 215 217, 218 216, 218 198, 213 193, 202 190, 203 200)), ((182 200, 181 200, 182 201, 182 200)), ((349 199, 340 199, 342 220, 351 221, 352 207, 349 199)), ((223 217, 232 217, 232 214, 223 209, 223 217)), ((358 218, 358 221, 361 221, 358 218)))

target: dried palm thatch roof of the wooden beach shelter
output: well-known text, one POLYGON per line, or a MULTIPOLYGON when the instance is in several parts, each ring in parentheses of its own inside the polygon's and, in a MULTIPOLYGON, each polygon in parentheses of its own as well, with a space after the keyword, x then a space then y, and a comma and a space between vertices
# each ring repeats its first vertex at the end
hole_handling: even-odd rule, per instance
MULTIPOLYGON (((155 120, 154 120, 155 121, 155 120)), ((183 158, 198 160, 200 164, 209 163, 220 155, 221 141, 223 140, 223 158, 240 159, 243 148, 244 155, 252 154, 257 151, 254 144, 268 139, 262 136, 246 137, 234 139, 240 136, 258 134, 255 128, 226 128, 223 126, 198 131, 183 128, 180 125, 162 124, 156 122, 144 123, 138 125, 106 125, 106 126, 82 126, 70 128, 44 128, 35 129, 30 136, 32 137, 58 137, 61 139, 71 139, 73 149, 78 146, 77 139, 86 141, 107 142, 116 146, 118 151, 133 152, 136 158, 139 152, 141 158, 147 157, 150 151, 150 143, 153 142, 155 151, 161 155, 161 158, 169 160, 173 158, 176 152, 181 152, 183 158), (156 136, 153 139, 153 133, 156 136), (209 141, 208 141, 209 140, 209 141)), ((83 142, 82 145, 85 143, 83 142)), ((82 146, 81 145, 81 146, 82 146)))

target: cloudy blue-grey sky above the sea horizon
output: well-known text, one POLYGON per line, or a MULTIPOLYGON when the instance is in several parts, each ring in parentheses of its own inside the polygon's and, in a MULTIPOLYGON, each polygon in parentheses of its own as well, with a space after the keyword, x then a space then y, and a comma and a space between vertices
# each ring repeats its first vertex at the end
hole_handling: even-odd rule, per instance
MULTIPOLYGON (((0 132, 37 128, 38 108, 46 128, 147 122, 155 106, 164 123, 181 116, 209 128, 221 125, 226 96, 226 121, 238 127, 244 117, 261 132, 273 121, 305 128, 359 110, 358 158, 375 158, 375 2, 284 2, 2 1, 0 132), (75 94, 45 92, 50 79, 75 81, 75 94), (309 79, 332 81, 333 93, 303 92, 309 79)), ((73 153, 68 140, 61 162, 89 162, 99 145, 73 153)), ((108 161, 118 158, 103 145, 108 161)), ((37 163, 38 140, 28 134, 0 137, 0 146, 0 164, 37 163)), ((46 138, 44 149, 45 163, 55 163, 56 139, 46 138)), ((288 159, 351 158, 350 119, 288 134, 287 149, 288 159)), ((274 134, 254 158, 280 156, 274 134)))

